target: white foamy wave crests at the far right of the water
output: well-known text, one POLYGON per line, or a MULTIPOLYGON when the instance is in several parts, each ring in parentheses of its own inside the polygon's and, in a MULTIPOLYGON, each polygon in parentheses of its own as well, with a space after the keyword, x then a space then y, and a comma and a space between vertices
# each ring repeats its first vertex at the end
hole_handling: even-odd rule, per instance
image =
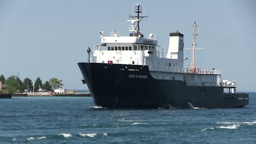
POLYGON ((214 129, 238 129, 239 127, 246 126, 246 125, 254 125, 256 124, 256 121, 254 122, 218 122, 217 124, 223 124, 222 126, 217 126, 217 127, 209 127, 205 128, 201 131, 206 131, 206 130, 214 130, 214 129))

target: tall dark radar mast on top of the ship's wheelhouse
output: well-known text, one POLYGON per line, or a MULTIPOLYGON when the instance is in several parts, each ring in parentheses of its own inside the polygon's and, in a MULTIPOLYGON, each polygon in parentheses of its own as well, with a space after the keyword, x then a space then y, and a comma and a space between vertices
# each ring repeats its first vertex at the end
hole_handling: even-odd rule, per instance
POLYGON ((129 18, 133 18, 135 20, 135 21, 131 21, 133 25, 134 25, 134 22, 137 22, 137 26, 133 30, 132 36, 139 36, 141 35, 139 23, 143 18, 147 18, 147 16, 140 16, 140 13, 142 13, 142 6, 140 6, 141 3, 135 3, 135 4, 137 5, 135 6, 135 13, 137 13, 137 15, 129 14, 129 18))

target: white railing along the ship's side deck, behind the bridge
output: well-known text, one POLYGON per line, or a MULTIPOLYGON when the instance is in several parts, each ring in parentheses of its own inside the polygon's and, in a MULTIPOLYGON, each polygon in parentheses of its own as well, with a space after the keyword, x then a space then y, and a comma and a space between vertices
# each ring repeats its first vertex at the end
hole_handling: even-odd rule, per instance
POLYGON ((204 74, 204 75, 221 75, 221 70, 215 69, 189 69, 178 67, 152 67, 149 66, 150 71, 164 71, 172 73, 186 73, 186 74, 204 74))

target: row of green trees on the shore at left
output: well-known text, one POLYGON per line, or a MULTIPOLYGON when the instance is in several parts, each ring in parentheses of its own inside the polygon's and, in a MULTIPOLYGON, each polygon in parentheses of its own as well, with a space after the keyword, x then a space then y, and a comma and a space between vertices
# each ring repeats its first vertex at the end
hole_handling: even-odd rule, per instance
POLYGON ((33 92, 35 87, 35 92, 39 90, 39 88, 46 90, 46 91, 53 91, 55 89, 58 89, 59 86, 62 86, 61 83, 62 80, 59 80, 58 78, 51 78, 49 81, 46 81, 44 84, 42 83, 42 80, 37 77, 36 81, 33 85, 33 82, 30 78, 25 78, 23 81, 18 76, 12 75, 5 79, 4 75, 0 76, 0 81, 2 84, 7 85, 7 90, 2 90, 0 93, 17 93, 17 92, 33 92))

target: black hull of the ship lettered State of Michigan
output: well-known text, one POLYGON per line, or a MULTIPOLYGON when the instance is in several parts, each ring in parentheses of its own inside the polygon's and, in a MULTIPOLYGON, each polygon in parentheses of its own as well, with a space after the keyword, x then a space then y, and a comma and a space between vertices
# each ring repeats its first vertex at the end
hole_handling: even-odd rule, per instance
POLYGON ((223 93, 223 87, 155 79, 148 66, 85 62, 78 66, 95 105, 101 107, 189 108, 191 103, 199 108, 234 108, 249 103, 247 93, 223 93))

